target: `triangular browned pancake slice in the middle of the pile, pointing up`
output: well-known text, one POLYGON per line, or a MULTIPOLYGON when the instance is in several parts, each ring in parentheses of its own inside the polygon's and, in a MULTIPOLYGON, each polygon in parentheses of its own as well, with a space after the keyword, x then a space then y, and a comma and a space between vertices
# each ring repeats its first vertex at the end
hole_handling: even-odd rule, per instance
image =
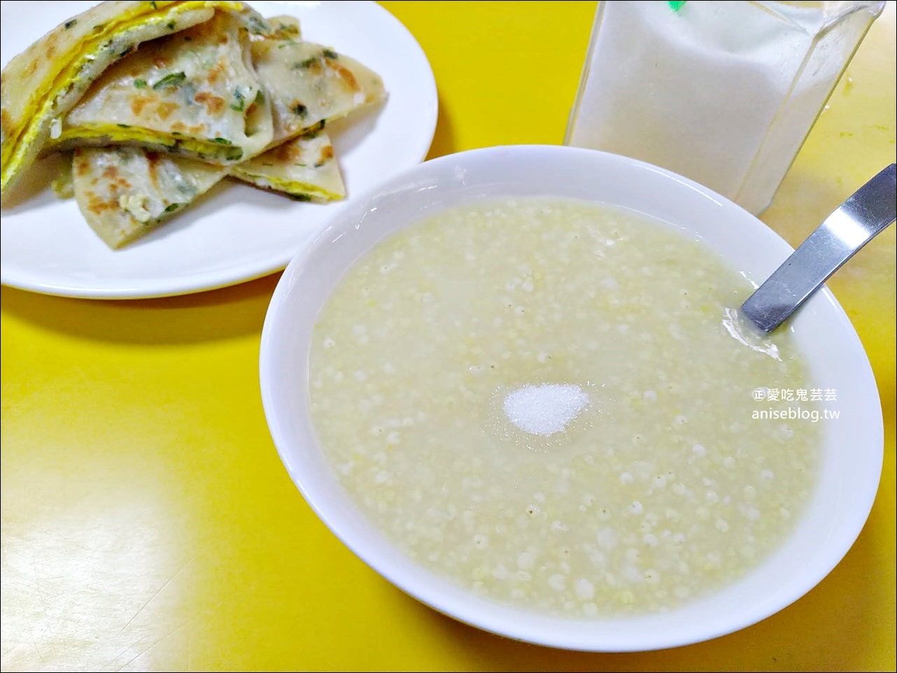
POLYGON ((216 164, 256 156, 273 126, 248 43, 243 23, 224 12, 144 43, 69 112, 57 146, 134 144, 216 164))

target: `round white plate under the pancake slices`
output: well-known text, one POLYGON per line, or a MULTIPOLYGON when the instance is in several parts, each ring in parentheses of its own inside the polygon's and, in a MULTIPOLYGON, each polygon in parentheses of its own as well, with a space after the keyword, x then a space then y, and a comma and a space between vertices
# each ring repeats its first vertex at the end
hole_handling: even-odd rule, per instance
MULTIPOLYGON (((0 4, 4 65, 91 2, 0 4)), ((335 210, 421 162, 436 128, 436 83, 427 57, 396 17, 373 2, 249 2, 265 16, 298 16, 309 41, 334 47, 383 77, 388 101, 334 123, 336 156, 349 197, 317 205, 226 180, 201 203, 126 249, 110 250, 73 200, 51 190, 4 208, 4 284, 40 293, 102 299, 210 290, 282 269, 318 236, 335 210)), ((30 178, 39 183, 40 170, 30 178)))

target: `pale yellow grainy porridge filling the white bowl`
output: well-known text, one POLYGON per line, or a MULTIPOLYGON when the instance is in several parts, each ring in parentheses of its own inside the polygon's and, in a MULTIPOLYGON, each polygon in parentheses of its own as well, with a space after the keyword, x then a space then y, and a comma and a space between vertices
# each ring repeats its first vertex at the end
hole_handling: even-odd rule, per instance
POLYGON ((318 317, 311 413, 344 489, 418 563, 548 614, 646 613, 788 535, 821 428, 752 420, 808 388, 717 253, 609 206, 520 198, 382 241, 318 317))

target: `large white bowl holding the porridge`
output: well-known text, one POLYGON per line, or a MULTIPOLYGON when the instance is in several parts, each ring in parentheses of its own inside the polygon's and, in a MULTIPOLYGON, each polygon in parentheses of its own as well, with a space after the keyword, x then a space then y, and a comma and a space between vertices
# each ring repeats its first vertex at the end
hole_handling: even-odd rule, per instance
MULTIPOLYGON (((875 379, 856 332, 827 290, 790 328, 815 381, 837 390, 824 422, 823 465, 812 502, 779 550, 741 581, 664 614, 584 620, 541 616, 476 597, 414 564, 373 529, 338 485, 309 415, 309 340, 318 310, 344 272, 388 234, 424 214, 483 197, 544 195, 622 205, 695 232, 760 283, 788 244, 726 198, 666 170, 614 154, 560 146, 492 147, 425 162, 335 212, 327 230, 283 273, 262 334, 267 421, 283 464, 337 537, 386 577, 440 612, 527 642, 588 651, 639 651, 727 634, 774 614, 821 581, 857 538, 883 459, 875 379)), ((749 403, 749 401, 747 401, 749 403)))

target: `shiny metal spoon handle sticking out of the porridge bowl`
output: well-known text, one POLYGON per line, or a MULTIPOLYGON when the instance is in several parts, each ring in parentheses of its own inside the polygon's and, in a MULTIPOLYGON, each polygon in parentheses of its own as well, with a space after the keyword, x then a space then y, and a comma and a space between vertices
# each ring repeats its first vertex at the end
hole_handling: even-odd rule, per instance
POLYGON ((893 224, 895 195, 897 173, 892 163, 826 217, 747 298, 742 313, 764 332, 778 328, 858 249, 893 224))

